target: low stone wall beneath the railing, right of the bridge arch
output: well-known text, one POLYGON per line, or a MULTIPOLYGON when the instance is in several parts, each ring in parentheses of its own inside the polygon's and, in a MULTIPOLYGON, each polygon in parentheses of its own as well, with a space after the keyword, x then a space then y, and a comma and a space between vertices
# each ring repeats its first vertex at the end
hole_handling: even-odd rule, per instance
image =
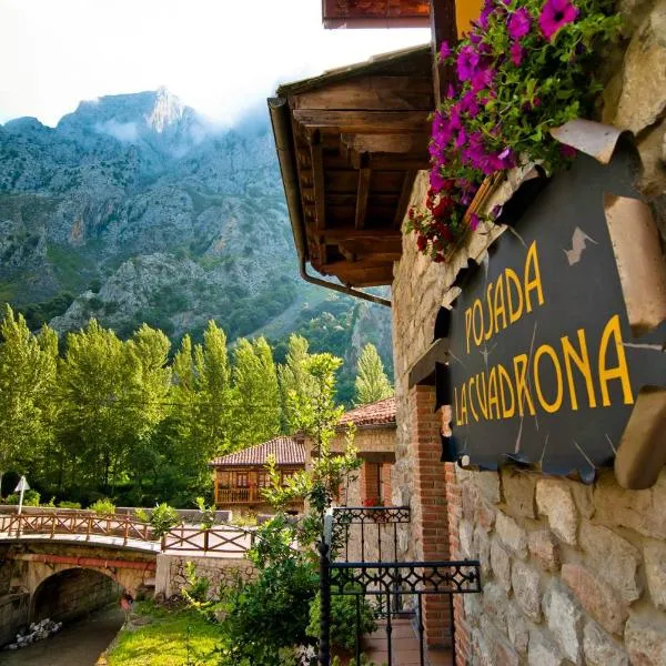
POLYGON ((221 587, 232 585, 242 578, 249 581, 255 575, 254 565, 248 559, 232 557, 184 557, 182 555, 158 555, 155 573, 155 596, 170 598, 179 595, 188 584, 188 563, 194 565, 196 576, 211 583, 209 596, 219 598, 221 587))

